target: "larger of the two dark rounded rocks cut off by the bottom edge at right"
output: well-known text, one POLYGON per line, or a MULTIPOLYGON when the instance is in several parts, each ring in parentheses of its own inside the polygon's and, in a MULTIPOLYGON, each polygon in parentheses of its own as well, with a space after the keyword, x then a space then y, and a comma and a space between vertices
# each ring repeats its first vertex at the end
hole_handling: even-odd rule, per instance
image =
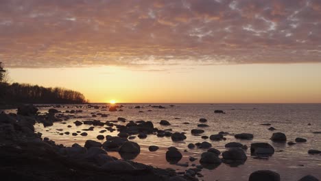
POLYGON ((259 170, 251 173, 248 181, 280 181, 280 174, 270 170, 259 170))

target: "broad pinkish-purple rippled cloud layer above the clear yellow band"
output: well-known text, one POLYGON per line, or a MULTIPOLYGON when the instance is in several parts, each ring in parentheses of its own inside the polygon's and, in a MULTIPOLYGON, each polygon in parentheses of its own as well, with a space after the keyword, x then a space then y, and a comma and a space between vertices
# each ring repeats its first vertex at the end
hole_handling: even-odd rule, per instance
POLYGON ((7 67, 321 62, 320 0, 1 0, 7 67))

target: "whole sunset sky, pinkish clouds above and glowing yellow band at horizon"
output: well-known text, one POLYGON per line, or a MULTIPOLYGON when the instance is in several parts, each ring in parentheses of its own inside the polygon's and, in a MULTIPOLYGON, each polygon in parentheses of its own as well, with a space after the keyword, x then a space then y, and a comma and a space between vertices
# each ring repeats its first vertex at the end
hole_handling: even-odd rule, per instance
POLYGON ((13 82, 92 102, 321 103, 320 0, 2 0, 13 82))

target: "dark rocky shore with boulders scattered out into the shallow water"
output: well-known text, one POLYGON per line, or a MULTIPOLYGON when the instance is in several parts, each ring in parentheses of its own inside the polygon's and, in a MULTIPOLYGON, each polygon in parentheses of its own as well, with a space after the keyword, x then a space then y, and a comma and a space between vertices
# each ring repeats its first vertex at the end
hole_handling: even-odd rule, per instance
MULTIPOLYGON (((95 106, 88 105, 89 108, 95 106)), ((98 107, 102 109, 101 107, 98 107)), ((106 107, 107 108, 107 107, 106 107)), ((106 109, 103 108, 103 109, 106 109)), ((117 107, 118 108, 118 107, 117 107)), ((160 107, 156 107, 160 108, 160 107)), ((165 108, 165 107, 161 107, 165 108)), ((67 113, 82 112, 82 110, 66 110, 67 113)), ((222 112, 219 112, 222 113, 222 112)), ((225 145, 226 152, 212 147, 209 142, 189 143, 189 149, 198 147, 199 149, 207 149, 200 156, 200 164, 195 168, 187 169, 184 172, 176 172, 174 169, 158 169, 149 165, 143 165, 138 162, 132 162, 141 148, 139 144, 130 141, 135 138, 146 138, 148 134, 155 134, 158 137, 170 137, 173 142, 184 141, 187 137, 184 132, 171 132, 171 129, 159 130, 154 128, 151 121, 127 121, 123 117, 118 117, 117 121, 74 121, 74 126, 93 125, 82 132, 64 132, 63 134, 73 134, 77 136, 87 136, 88 131, 92 131, 95 126, 107 126, 106 130, 102 130, 97 135, 99 143, 93 140, 87 140, 84 147, 73 144, 71 147, 64 145, 56 145, 49 138, 42 138, 40 132, 35 133, 35 123, 42 123, 44 127, 53 125, 53 123, 66 123, 72 117, 71 114, 62 114, 55 108, 49 108, 48 112, 39 114, 38 108, 32 105, 20 106, 17 114, 10 113, 0 114, 0 172, 4 180, 198 180, 202 178, 200 171, 202 169, 214 169, 222 162, 231 167, 243 165, 247 160, 244 150, 248 149, 247 145, 237 142, 230 142, 225 145), (119 124, 121 123, 121 124, 119 124), (113 132, 117 130, 117 136, 104 136, 106 131, 113 132), (104 131, 104 132, 103 132, 104 131), (123 160, 108 155, 108 152, 119 152, 123 160), (222 156, 222 158, 219 158, 222 156)), ((225 112, 224 112, 225 114, 225 112)), ((108 117, 108 114, 92 114, 93 117, 108 117)), ((206 127, 207 120, 202 118, 199 120, 201 124, 198 128, 206 127)), ((160 125, 171 125, 169 121, 161 120, 160 125)), ((265 125, 265 124, 263 124, 265 125)), ((270 125, 270 124, 268 124, 270 125)), ((71 125, 68 125, 71 126, 71 125)), ((62 129, 61 129, 62 131, 62 129)), ((202 134, 204 130, 193 129, 192 135, 202 134)), ((228 132, 219 132, 206 136, 211 141, 221 141, 226 139, 228 132)), ((234 135, 239 140, 252 140, 253 134, 241 133, 234 135)), ((282 132, 274 132, 270 138, 273 142, 286 143, 287 137, 282 132)), ((305 138, 296 138, 296 143, 304 143, 305 138)), ((288 142, 288 144, 292 144, 288 142)), ((294 143, 295 144, 295 143, 294 143)), ((159 147, 151 145, 150 152, 156 152, 159 147)), ((185 150, 187 152, 187 150, 185 150)), ((259 159, 265 159, 274 154, 274 147, 269 143, 252 143, 250 145, 251 156, 259 159)), ((318 150, 309 150, 309 154, 320 154, 318 150)), ((182 159, 180 150, 176 147, 168 147, 166 152, 166 160, 171 164, 186 167, 186 164, 178 163, 182 159)), ((190 157, 193 162, 198 158, 190 157)), ((188 164, 187 164, 188 167, 188 164)), ((249 176, 250 181, 259 180, 281 180, 280 175, 274 171, 259 170, 254 171, 249 176)), ((311 180, 316 181, 313 176, 305 176, 300 181, 311 180)))

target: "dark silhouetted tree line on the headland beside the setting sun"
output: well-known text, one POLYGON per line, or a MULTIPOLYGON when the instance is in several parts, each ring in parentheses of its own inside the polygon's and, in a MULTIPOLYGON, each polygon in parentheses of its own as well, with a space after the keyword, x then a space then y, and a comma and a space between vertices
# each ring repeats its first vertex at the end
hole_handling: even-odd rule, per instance
POLYGON ((0 104, 84 104, 82 93, 67 88, 45 88, 31 84, 3 82, 0 62, 0 104))

